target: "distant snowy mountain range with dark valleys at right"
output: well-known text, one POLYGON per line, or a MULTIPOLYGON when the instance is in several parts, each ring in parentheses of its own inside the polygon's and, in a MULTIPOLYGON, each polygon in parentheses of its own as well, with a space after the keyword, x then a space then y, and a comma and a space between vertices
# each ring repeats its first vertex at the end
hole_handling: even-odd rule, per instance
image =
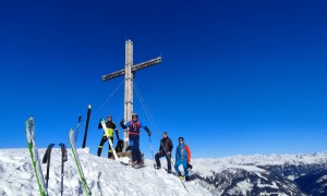
POLYGON ((192 180, 214 195, 327 195, 327 154, 197 159, 192 180))

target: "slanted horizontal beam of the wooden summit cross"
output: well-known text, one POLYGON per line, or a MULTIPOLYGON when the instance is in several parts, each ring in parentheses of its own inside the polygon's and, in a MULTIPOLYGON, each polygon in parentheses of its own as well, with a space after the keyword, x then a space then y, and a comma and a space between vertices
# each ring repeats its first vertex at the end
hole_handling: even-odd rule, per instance
MULTIPOLYGON (((161 57, 157 57, 155 59, 152 59, 152 60, 132 65, 131 70, 132 70, 132 72, 136 72, 138 70, 158 64, 160 62, 161 62, 161 57)), ((118 77, 118 76, 121 76, 121 75, 124 75, 124 74, 125 74, 125 70, 123 69, 123 70, 112 72, 112 73, 107 74, 107 75, 102 75, 102 81, 105 82, 105 81, 108 81, 108 79, 111 79, 111 78, 114 78, 114 77, 118 77)))

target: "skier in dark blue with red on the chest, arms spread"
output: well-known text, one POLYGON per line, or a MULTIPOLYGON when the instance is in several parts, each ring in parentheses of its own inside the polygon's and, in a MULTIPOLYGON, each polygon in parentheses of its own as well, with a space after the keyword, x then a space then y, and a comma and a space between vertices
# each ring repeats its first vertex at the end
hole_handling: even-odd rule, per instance
POLYGON ((147 132, 148 136, 152 135, 152 132, 147 126, 143 125, 138 121, 138 115, 136 113, 132 114, 132 121, 124 124, 124 121, 122 120, 120 125, 122 128, 129 128, 130 147, 132 149, 132 167, 140 168, 142 166, 142 157, 140 151, 140 130, 143 127, 147 132))

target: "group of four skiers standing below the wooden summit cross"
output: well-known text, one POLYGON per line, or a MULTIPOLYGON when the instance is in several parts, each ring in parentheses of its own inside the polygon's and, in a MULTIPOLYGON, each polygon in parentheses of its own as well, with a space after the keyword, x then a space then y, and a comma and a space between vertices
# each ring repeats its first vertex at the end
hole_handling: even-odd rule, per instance
MULTIPOLYGON (((147 135, 150 136, 152 132, 149 128, 145 125, 143 125, 140 120, 138 115, 136 113, 132 114, 132 120, 124 124, 124 121, 122 120, 120 122, 120 125, 122 128, 129 128, 129 139, 130 139, 130 146, 129 148, 132 150, 132 164, 137 167, 141 167, 142 164, 142 156, 140 150, 140 131, 141 127, 144 128, 147 132, 147 135)), ((111 139, 113 142, 113 132, 116 132, 117 138, 119 139, 119 131, 117 128, 116 123, 112 121, 112 117, 108 115, 106 121, 107 131, 109 133, 109 138, 107 137, 107 134, 104 131, 104 135, 101 137, 100 144, 98 146, 97 156, 101 156, 104 144, 111 139)), ((99 123, 98 128, 102 128, 101 123, 99 123)), ((159 150, 155 156, 156 159, 156 169, 161 168, 160 158, 166 157, 167 159, 167 171, 168 173, 171 173, 171 151, 173 149, 172 140, 168 137, 167 132, 164 132, 162 139, 160 140, 159 150)), ((109 145, 109 151, 108 151, 108 158, 112 158, 112 149, 109 145)), ((189 177, 189 168, 192 169, 191 166, 191 150, 190 147, 184 143, 183 137, 179 137, 179 145, 175 149, 175 163, 174 169, 178 172, 178 175, 181 177, 181 171, 179 167, 182 164, 184 169, 184 176, 185 181, 190 181, 189 177)))

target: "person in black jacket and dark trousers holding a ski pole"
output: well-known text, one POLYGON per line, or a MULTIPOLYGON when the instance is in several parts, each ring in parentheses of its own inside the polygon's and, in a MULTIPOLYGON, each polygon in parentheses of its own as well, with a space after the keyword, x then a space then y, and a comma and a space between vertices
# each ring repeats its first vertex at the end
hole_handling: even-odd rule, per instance
POLYGON ((156 158, 156 163, 157 167, 156 169, 160 169, 161 168, 161 163, 160 163, 160 158, 161 157, 166 157, 167 159, 167 168, 168 168, 168 173, 171 172, 171 150, 173 148, 172 142, 171 139, 168 137, 167 132, 164 132, 164 136, 162 139, 160 140, 160 147, 159 147, 159 151, 156 154, 155 158, 156 158))

